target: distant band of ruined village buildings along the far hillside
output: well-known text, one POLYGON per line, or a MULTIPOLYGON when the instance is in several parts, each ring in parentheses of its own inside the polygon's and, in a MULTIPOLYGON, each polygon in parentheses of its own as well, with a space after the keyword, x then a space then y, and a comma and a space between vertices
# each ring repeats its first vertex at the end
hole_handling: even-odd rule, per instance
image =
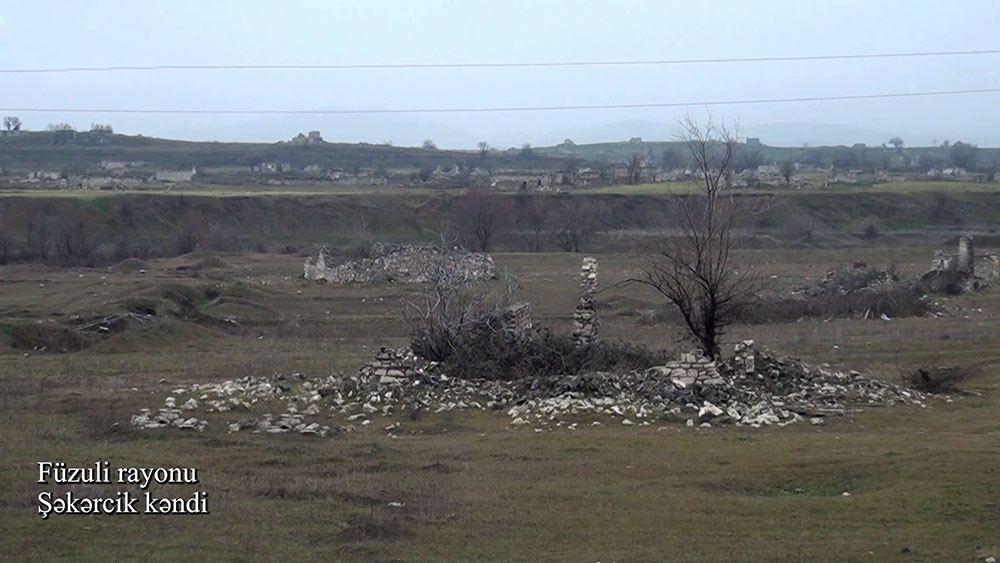
MULTIPOLYGON (((57 132, 58 144, 106 145, 111 134, 103 131, 57 132)), ((13 132, 9 135, 14 135, 13 132)), ((55 141, 53 141, 55 142, 55 141)), ((309 186, 329 185, 341 187, 434 187, 434 188, 484 188, 508 192, 558 192, 573 188, 621 184, 683 182, 693 179, 697 171, 683 166, 676 159, 658 157, 652 149, 642 149, 641 140, 624 143, 636 145, 630 158, 616 160, 600 156, 582 160, 566 151, 561 145, 543 153, 541 160, 525 160, 523 164, 511 162, 509 151, 493 151, 493 156, 506 155, 504 164, 488 163, 487 159, 470 160, 469 155, 440 151, 439 157, 424 154, 423 164, 401 166, 331 166, 329 155, 323 147, 332 147, 319 131, 299 133, 294 138, 277 143, 290 151, 280 158, 266 157, 255 160, 220 156, 213 162, 178 162, 163 166, 142 160, 106 158, 99 163, 74 164, 66 169, 5 168, 0 165, 0 179, 14 186, 56 186, 67 189, 129 189, 143 186, 246 185, 309 186), (642 152, 645 151, 645 152, 642 152), (217 162, 216 162, 217 161, 217 162), (429 164, 428 164, 429 163, 429 164)), ((956 143, 956 145, 958 145, 956 143)), ((358 147, 361 145, 351 145, 358 147)), ((872 185, 893 182, 946 180, 951 182, 997 182, 1000 172, 993 168, 972 170, 944 162, 924 162, 917 157, 895 158, 905 162, 889 168, 867 162, 869 147, 856 144, 842 149, 845 155, 841 165, 820 165, 815 162, 762 163, 759 151, 764 145, 759 139, 746 139, 740 145, 746 157, 734 166, 727 178, 730 186, 740 189, 779 187, 786 189, 822 188, 831 185, 872 185), (862 156, 857 156, 862 155, 862 156), (900 168, 900 167, 903 168, 900 168)), ((367 150, 376 149, 375 145, 367 150)), ((971 145, 970 145, 971 147, 971 145)), ((386 147, 391 149, 391 147, 386 147)), ((349 149, 354 150, 354 149, 349 149)), ((429 152, 429 151, 428 151, 429 152)), ((433 153, 431 153, 433 154, 433 153)), ((618 153, 615 153, 618 154, 618 153)), ((371 159, 367 159, 371 161, 371 159)))

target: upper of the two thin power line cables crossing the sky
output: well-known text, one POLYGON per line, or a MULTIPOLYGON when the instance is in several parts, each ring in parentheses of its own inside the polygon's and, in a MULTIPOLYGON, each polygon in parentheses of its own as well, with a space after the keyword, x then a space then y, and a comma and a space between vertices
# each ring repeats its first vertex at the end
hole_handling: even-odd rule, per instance
POLYGON ((79 66, 53 68, 2 68, 0 74, 45 74, 66 72, 116 72, 160 70, 370 70, 370 69, 449 69, 449 68, 529 68, 529 67, 596 67, 596 66, 646 66, 693 65, 720 63, 768 63, 787 61, 833 61, 857 59, 901 59, 913 57, 953 57, 971 55, 996 55, 1000 49, 972 51, 923 51, 905 53, 858 53, 844 55, 804 55, 784 57, 732 57, 704 59, 659 59, 617 61, 522 61, 507 63, 397 63, 397 64, 244 64, 244 65, 148 65, 148 66, 79 66))

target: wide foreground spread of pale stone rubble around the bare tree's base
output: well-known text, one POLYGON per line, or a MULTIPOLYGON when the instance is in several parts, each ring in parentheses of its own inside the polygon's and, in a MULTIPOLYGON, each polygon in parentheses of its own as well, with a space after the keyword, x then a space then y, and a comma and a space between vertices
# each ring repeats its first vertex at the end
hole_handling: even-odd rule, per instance
POLYGON ((203 430, 207 423, 184 418, 182 409, 243 411, 246 418, 227 423, 230 432, 298 433, 326 436, 379 424, 392 434, 391 419, 416 411, 504 412, 513 426, 537 431, 580 424, 602 425, 608 418, 626 426, 685 422, 688 426, 734 424, 760 427, 844 415, 862 407, 897 404, 926 406, 926 397, 898 385, 869 379, 855 371, 809 366, 799 360, 757 350, 752 341, 736 345, 735 356, 716 363, 698 354, 622 374, 584 373, 523 380, 489 381, 448 377, 408 349, 379 350, 357 375, 291 379, 242 378, 192 385, 175 395, 190 395, 181 409, 173 397, 153 416, 133 417, 140 428, 176 426, 203 430), (253 416, 283 405, 283 413, 253 416), (596 419, 599 417, 599 419, 596 419), (181 420, 181 422, 175 422, 181 420), (602 422, 602 420, 604 422, 602 422), (191 422, 194 421, 194 422, 191 422))

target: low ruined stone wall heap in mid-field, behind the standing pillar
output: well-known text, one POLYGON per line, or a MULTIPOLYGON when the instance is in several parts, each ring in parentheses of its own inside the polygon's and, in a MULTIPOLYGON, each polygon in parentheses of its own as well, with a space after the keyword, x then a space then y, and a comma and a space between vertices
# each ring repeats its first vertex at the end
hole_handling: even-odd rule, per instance
POLYGON ((493 279, 496 268, 489 254, 461 248, 376 243, 371 256, 331 267, 326 247, 303 266, 307 280, 336 284, 422 283, 445 272, 459 283, 493 279))

